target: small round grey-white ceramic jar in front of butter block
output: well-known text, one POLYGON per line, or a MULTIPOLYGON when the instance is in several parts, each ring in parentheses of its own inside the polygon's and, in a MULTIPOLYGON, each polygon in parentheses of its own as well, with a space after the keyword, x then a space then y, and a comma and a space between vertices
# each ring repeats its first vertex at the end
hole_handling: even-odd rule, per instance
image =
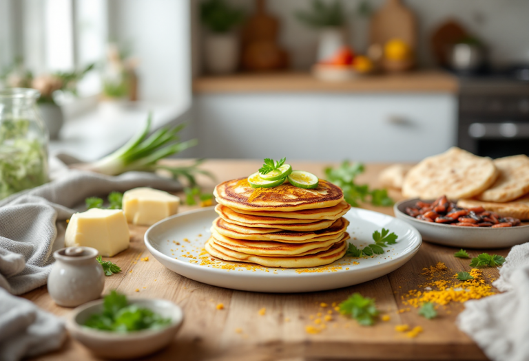
POLYGON ((97 255, 98 251, 90 247, 68 247, 54 252, 48 292, 57 305, 76 307, 101 296, 105 273, 97 255))

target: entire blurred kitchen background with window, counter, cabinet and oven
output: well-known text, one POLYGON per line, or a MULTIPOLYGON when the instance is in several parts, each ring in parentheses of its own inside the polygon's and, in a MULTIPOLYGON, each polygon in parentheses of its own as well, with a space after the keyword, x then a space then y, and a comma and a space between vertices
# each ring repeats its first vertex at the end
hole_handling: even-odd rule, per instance
POLYGON ((526 0, 0 0, 3 88, 50 153, 186 122, 181 157, 529 154, 526 0))

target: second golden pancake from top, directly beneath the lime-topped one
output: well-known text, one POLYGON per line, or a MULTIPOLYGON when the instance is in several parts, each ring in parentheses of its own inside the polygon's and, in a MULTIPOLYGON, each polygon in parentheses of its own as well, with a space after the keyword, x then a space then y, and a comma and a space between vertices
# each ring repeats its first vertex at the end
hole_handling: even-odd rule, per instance
POLYGON ((351 205, 346 201, 341 201, 339 204, 333 207, 327 208, 314 208, 305 210, 293 210, 291 212, 278 212, 273 210, 245 210, 240 208, 230 207, 231 210, 241 213, 243 215, 253 215, 262 217, 278 217, 287 219, 297 219, 297 223, 301 219, 307 220, 319 220, 319 219, 338 219, 346 214, 351 209, 351 205))

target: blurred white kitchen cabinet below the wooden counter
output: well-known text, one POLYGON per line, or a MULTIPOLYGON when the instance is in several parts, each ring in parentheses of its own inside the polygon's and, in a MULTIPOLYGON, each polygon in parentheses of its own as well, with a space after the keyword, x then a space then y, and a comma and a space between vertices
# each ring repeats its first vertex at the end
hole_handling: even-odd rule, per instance
POLYGON ((456 140, 456 98, 434 94, 251 93, 194 98, 208 158, 414 162, 456 140))

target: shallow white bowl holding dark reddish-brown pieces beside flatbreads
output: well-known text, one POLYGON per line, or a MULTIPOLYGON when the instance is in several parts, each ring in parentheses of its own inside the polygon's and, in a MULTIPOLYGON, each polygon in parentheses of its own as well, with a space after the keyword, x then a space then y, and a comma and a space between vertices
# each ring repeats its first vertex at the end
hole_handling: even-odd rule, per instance
POLYGON ((393 210, 395 217, 417 228, 424 241, 460 248, 506 248, 529 241, 529 225, 508 228, 455 227, 420 221, 406 215, 406 207, 415 206, 418 200, 400 201, 393 206, 393 210))

